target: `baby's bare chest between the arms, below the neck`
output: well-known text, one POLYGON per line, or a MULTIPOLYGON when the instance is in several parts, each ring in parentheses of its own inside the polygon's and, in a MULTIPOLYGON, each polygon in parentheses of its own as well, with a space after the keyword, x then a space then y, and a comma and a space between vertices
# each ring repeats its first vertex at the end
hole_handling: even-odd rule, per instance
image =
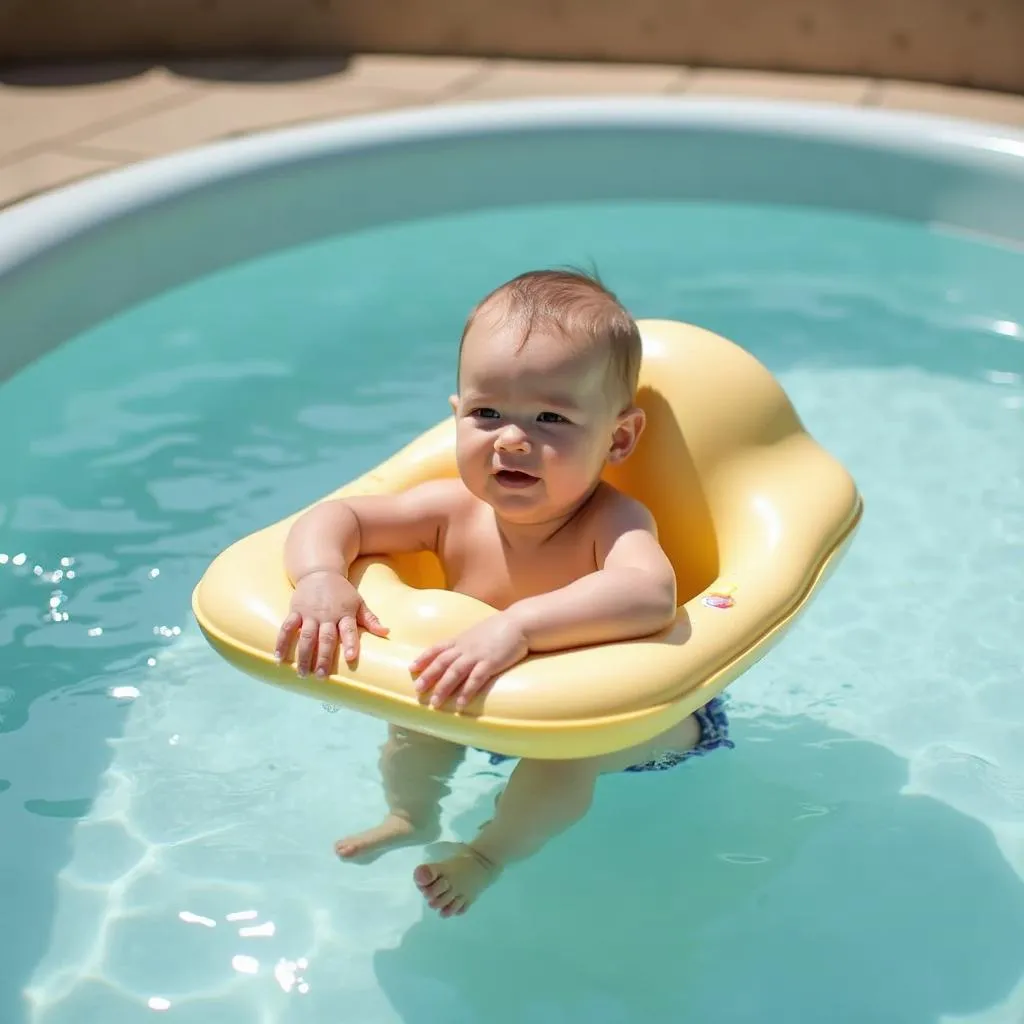
POLYGON ((593 572, 592 545, 553 545, 536 551, 509 551, 500 540, 466 537, 445 552, 451 590, 496 608, 566 587, 593 572))

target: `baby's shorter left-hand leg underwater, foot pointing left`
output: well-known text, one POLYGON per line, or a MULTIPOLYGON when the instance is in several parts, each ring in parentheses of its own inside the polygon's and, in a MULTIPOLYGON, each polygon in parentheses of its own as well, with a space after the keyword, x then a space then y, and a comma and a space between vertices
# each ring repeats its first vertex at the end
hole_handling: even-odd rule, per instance
POLYGON ((349 859, 433 842, 440 831, 438 804, 465 752, 446 739, 388 726, 380 761, 388 813, 376 827, 339 840, 338 856, 349 859))

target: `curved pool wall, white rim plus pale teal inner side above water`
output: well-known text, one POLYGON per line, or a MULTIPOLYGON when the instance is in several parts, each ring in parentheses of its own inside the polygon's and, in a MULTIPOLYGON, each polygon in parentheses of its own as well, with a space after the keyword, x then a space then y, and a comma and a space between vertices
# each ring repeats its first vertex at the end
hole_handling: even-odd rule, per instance
POLYGON ((1024 133, 647 98, 420 110, 218 143, 0 214, 0 379, 132 303, 262 253, 413 217, 598 199, 810 205, 1024 245, 1024 133))

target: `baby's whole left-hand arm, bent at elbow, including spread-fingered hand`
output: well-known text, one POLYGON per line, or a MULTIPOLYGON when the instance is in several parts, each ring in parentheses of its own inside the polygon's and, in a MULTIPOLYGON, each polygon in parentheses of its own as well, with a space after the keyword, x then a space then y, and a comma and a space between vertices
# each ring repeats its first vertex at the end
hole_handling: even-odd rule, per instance
POLYGON ((285 542, 285 570, 295 593, 278 635, 278 656, 287 657, 296 644, 299 673, 315 665, 317 675, 326 675, 339 636, 352 660, 359 626, 385 635, 386 627, 348 582, 348 570, 360 555, 436 551, 454 496, 452 481, 434 481, 398 495, 324 502, 301 515, 285 542))

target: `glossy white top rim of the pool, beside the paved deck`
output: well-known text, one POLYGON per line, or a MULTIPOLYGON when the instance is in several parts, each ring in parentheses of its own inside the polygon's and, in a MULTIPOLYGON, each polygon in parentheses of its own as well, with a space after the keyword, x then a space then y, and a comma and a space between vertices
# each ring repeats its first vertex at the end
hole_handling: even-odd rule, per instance
POLYGON ((762 131, 970 162, 1019 164, 1024 130, 932 114, 806 101, 607 96, 453 103, 374 113, 212 142, 100 172, 0 211, 0 274, 147 203, 296 160, 429 139, 546 128, 762 131))

